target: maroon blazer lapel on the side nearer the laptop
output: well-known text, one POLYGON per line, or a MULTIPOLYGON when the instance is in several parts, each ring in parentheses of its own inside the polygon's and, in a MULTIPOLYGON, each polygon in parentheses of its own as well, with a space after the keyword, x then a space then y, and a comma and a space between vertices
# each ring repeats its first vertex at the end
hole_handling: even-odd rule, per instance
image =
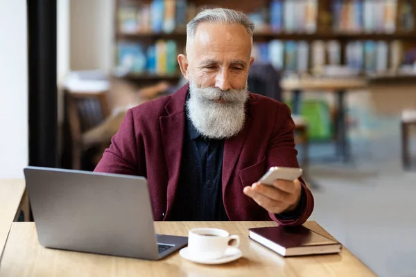
POLYGON ((162 145, 164 159, 168 169, 168 188, 166 203, 166 219, 172 210, 177 184, 180 177, 180 164, 182 159, 182 149, 185 128, 185 100, 187 97, 188 84, 180 88, 171 100, 166 104, 167 116, 159 117, 160 133, 162 135, 162 145))

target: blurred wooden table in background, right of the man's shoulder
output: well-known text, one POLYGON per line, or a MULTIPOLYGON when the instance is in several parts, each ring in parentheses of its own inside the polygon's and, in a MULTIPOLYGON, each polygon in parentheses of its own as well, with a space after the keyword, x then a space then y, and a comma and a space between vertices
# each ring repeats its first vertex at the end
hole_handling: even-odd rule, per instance
POLYGON ((336 93, 336 152, 340 154, 343 162, 351 160, 347 141, 345 95, 347 91, 367 87, 368 81, 365 78, 287 78, 281 81, 281 88, 293 93, 293 114, 300 113, 300 98, 304 91, 331 91, 336 93))

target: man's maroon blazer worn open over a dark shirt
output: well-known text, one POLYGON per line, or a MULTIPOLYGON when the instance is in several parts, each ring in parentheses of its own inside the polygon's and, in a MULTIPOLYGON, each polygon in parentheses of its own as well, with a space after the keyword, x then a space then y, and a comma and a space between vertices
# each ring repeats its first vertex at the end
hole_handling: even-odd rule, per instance
MULTIPOLYGON (((97 172, 139 175, 148 179, 155 220, 169 220, 177 191, 189 84, 129 109, 97 172)), ((223 203, 229 220, 275 220, 302 224, 311 215, 313 197, 304 184, 306 208, 297 220, 279 221, 243 193, 271 166, 297 167, 290 109, 281 102, 250 93, 244 129, 225 140, 223 203)), ((302 181, 302 183, 304 183, 302 181)))

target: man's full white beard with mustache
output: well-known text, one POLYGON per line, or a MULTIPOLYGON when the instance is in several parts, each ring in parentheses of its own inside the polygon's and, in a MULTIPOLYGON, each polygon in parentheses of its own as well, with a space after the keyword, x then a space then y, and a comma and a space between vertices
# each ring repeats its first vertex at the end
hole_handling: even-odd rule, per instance
POLYGON ((222 91, 216 87, 202 89, 189 80, 189 93, 188 117, 202 136, 208 139, 228 139, 243 129, 245 102, 249 97, 247 85, 245 89, 222 91))

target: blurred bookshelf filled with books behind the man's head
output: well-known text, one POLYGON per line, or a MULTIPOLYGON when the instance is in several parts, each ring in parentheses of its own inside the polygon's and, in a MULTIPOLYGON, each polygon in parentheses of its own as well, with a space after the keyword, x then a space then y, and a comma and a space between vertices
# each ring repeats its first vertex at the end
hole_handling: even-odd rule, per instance
POLYGON ((291 73, 339 65, 392 80, 416 47, 410 0, 116 0, 115 64, 130 66, 123 78, 177 81, 187 22, 198 8, 218 6, 246 12, 256 24, 254 57, 291 73))

